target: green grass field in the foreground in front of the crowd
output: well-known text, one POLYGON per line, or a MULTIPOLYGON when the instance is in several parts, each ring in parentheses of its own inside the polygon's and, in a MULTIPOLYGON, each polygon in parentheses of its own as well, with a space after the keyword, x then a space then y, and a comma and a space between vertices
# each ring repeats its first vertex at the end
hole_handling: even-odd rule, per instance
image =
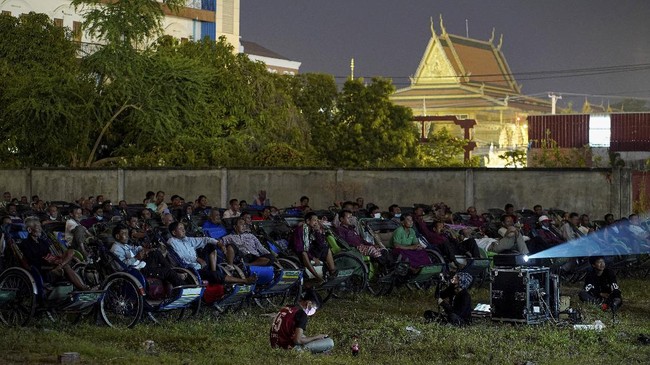
MULTIPOLYGON (((432 291, 403 289, 384 298, 334 299, 311 317, 306 333, 327 333, 336 343, 329 355, 271 349, 271 317, 263 310, 216 317, 204 309, 195 319, 145 322, 131 330, 45 318, 27 328, 0 327, 0 363, 57 363, 58 354, 74 351, 84 364, 649 364, 650 346, 637 342, 639 334, 650 334, 648 282, 620 280, 625 303, 618 324, 609 312, 581 306, 577 285, 562 287, 562 295, 571 295, 572 306, 581 308, 584 322, 605 323, 601 332, 550 322, 425 324, 422 312, 433 307, 432 291), (350 354, 353 335, 359 336, 358 357, 350 354), (143 349, 146 340, 154 341, 154 351, 143 349)), ((489 303, 487 287, 471 290, 474 303, 489 303)))

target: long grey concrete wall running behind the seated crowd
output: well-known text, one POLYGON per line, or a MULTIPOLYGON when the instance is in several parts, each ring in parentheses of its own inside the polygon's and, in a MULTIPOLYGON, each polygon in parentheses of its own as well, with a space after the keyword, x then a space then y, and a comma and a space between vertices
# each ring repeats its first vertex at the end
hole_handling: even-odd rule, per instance
POLYGON ((382 209, 444 201, 454 211, 475 205, 479 211, 503 208, 561 208, 600 219, 605 213, 628 215, 632 177, 628 169, 431 169, 431 170, 65 170, 0 171, 0 192, 38 194, 46 200, 72 201, 103 194, 141 203, 149 190, 179 194, 193 201, 200 194, 225 207, 230 198, 252 201, 265 189, 278 207, 297 204, 302 195, 314 208, 363 197, 382 209))

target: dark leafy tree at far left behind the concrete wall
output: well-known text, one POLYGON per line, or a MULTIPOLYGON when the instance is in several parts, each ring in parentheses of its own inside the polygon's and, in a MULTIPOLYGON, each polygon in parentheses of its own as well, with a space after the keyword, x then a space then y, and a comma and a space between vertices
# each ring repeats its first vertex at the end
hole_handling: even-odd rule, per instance
POLYGON ((0 156, 11 166, 74 165, 87 154, 92 80, 71 33, 44 14, 0 15, 0 156))

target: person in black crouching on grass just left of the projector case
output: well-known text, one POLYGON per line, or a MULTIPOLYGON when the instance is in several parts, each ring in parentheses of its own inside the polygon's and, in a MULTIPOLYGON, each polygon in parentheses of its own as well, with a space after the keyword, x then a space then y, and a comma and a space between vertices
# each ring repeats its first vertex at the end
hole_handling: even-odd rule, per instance
POLYGON ((440 293, 438 305, 440 313, 432 310, 424 312, 427 322, 449 323, 453 326, 464 326, 472 323, 472 297, 467 289, 472 285, 472 275, 459 272, 451 278, 451 282, 440 293))

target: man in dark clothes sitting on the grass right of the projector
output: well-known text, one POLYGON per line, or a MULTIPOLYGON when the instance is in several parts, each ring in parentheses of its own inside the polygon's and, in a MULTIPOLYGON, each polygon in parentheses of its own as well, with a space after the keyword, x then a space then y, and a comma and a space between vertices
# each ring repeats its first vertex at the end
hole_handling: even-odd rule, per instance
POLYGON ((585 287, 578 295, 587 303, 600 304, 603 310, 612 308, 616 311, 622 304, 621 290, 616 282, 616 274, 605 267, 603 256, 589 258, 592 271, 585 277, 585 287))

